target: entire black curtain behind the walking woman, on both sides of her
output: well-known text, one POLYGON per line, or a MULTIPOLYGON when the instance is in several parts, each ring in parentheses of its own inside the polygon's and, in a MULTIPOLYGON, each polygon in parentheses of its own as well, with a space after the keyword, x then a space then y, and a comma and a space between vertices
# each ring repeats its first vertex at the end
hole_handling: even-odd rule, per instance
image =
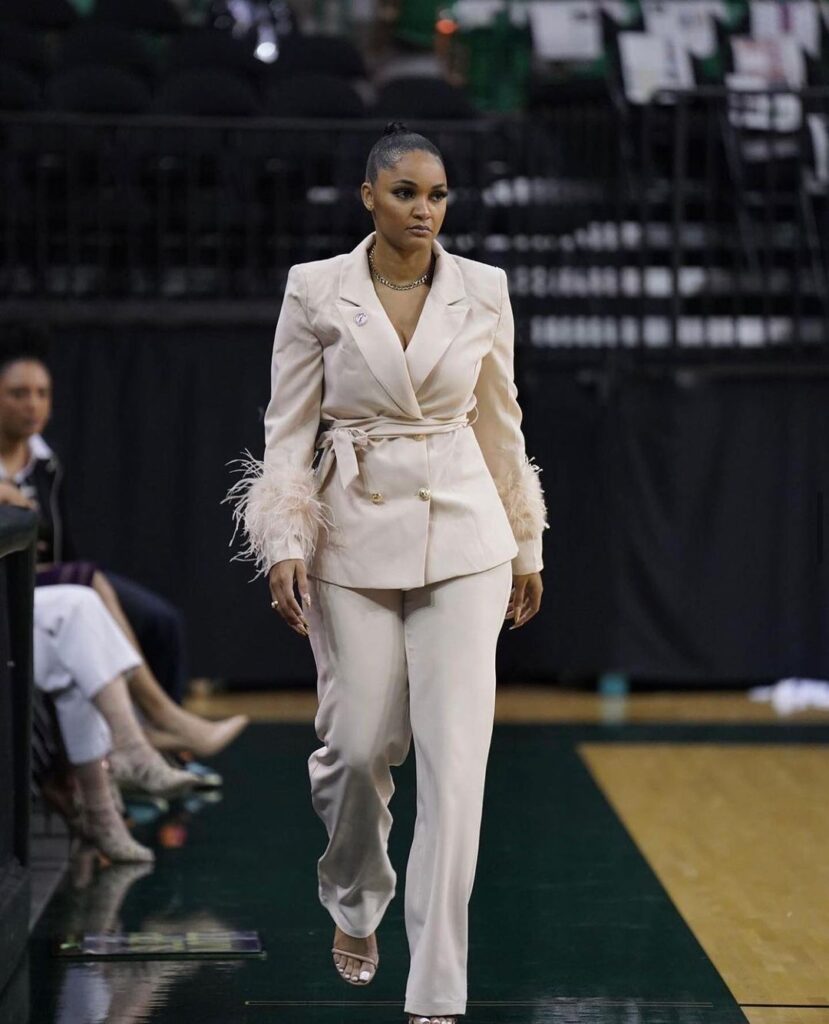
MULTIPOLYGON (((220 504, 227 464, 262 454, 271 340, 261 327, 62 329, 48 438, 81 553, 183 607, 194 674, 310 683, 307 641, 229 560, 220 504)), ((550 507, 546 590, 533 623, 505 630, 500 672, 829 676, 829 378, 631 372, 607 390, 531 355, 519 391, 550 507)))

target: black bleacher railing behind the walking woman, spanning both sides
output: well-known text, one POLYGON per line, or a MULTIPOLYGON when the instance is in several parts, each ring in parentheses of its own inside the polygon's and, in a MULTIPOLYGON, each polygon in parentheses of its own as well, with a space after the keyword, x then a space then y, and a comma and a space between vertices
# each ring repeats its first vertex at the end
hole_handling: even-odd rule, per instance
MULTIPOLYGON (((417 127, 446 158, 443 241, 508 270, 522 343, 693 358, 829 344, 827 122, 826 89, 703 89, 417 127)), ((382 127, 0 115, 6 309, 271 323, 291 264, 370 229, 382 127)))

